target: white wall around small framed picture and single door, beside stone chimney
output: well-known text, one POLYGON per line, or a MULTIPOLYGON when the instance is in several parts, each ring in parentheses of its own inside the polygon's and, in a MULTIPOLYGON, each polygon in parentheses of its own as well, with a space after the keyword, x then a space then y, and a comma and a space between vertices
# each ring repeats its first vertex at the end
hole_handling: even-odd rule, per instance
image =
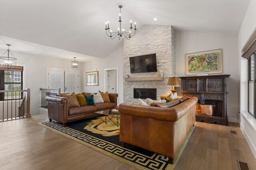
POLYGON ((97 61, 85 62, 82 65, 82 84, 83 92, 98 92, 104 91, 104 69, 105 68, 115 68, 118 67, 118 101, 123 102, 123 47, 110 54, 104 59, 99 59, 97 61), (99 74, 98 86, 86 86, 86 72, 94 71, 97 68, 99 74))

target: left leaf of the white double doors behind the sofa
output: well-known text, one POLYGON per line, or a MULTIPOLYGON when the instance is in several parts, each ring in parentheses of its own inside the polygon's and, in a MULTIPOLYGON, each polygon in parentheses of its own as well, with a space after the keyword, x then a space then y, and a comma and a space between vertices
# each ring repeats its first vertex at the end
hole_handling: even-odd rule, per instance
POLYGON ((48 70, 48 88, 64 89, 64 71, 63 70, 48 70))

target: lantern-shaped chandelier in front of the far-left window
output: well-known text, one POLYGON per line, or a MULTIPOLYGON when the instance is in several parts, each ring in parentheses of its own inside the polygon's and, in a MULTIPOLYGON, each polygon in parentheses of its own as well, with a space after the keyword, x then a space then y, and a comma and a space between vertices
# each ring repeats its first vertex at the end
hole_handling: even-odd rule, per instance
POLYGON ((13 68, 16 66, 17 59, 14 57, 9 47, 10 44, 6 44, 8 46, 7 49, 7 57, 6 52, 0 57, 0 70, 5 70, 6 74, 12 74, 13 68), (4 56, 5 55, 5 56, 4 56))

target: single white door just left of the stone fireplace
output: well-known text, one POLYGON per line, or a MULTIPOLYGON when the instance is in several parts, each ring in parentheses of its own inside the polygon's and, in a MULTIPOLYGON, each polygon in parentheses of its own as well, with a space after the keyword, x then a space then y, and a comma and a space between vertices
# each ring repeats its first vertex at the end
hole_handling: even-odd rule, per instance
POLYGON ((118 68, 104 69, 104 92, 118 94, 118 68))

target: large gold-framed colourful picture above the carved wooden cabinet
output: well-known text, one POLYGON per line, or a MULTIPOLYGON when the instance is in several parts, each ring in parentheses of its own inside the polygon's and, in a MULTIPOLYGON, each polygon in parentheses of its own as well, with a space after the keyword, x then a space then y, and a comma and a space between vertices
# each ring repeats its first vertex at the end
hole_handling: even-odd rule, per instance
POLYGON ((186 75, 222 73, 222 49, 185 54, 186 75))

